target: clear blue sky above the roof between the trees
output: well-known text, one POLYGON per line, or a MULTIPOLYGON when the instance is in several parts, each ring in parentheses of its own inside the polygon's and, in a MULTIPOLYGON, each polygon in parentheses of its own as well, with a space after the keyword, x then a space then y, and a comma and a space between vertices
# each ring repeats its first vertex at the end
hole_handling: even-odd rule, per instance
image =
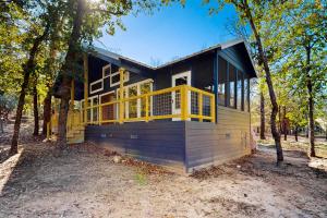
POLYGON ((126 31, 117 28, 113 36, 104 32, 95 46, 136 61, 157 65, 219 43, 234 39, 226 25, 237 17, 232 5, 209 15, 202 0, 189 0, 183 8, 174 3, 152 15, 128 15, 122 19, 126 31))

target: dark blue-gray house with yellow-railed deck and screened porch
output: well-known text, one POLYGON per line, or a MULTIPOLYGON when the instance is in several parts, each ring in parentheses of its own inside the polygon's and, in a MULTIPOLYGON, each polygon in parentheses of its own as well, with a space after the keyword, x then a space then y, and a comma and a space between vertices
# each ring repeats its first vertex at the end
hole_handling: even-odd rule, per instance
POLYGON ((253 77, 243 40, 157 68, 95 48, 72 84, 68 140, 187 172, 239 158, 251 153, 253 77))

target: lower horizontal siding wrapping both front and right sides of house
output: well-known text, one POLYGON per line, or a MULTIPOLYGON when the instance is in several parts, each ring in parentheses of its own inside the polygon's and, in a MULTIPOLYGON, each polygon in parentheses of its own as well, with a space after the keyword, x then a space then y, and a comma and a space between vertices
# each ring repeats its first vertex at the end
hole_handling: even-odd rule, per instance
POLYGON ((175 171, 191 172, 251 153, 250 113, 219 109, 217 124, 161 121, 88 125, 85 140, 175 171))

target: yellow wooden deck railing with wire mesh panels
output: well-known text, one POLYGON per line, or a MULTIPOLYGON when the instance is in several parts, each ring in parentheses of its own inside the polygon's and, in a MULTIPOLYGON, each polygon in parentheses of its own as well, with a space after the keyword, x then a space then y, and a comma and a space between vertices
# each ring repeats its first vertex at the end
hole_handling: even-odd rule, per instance
MULTIPOLYGON (((119 95, 120 96, 120 95, 119 95)), ((123 95, 121 95, 123 96, 123 95)), ((84 117, 85 108, 81 111, 84 117)), ((86 108, 86 124, 152 121, 159 119, 215 122, 215 95, 181 85, 86 108)))

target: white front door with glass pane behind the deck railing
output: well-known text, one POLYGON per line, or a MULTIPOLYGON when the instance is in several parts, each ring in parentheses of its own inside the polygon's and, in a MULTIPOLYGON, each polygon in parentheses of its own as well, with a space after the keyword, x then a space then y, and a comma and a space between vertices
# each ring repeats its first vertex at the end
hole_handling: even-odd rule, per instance
MULTIPOLYGON (((183 73, 179 73, 171 76, 171 86, 179 86, 179 85, 190 85, 191 86, 191 71, 186 71, 183 73)), ((181 114, 181 93, 180 90, 172 92, 172 114, 181 114)), ((190 93, 187 93, 187 111, 191 110, 191 99, 190 99, 190 93)), ((172 120, 181 120, 180 118, 173 118, 172 120)))

